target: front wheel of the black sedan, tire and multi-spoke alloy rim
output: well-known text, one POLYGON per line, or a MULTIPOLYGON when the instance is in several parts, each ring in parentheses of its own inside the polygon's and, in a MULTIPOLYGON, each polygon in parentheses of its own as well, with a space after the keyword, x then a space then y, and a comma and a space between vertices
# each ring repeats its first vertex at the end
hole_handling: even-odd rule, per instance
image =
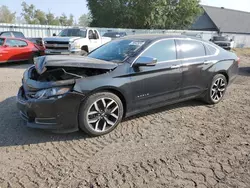
POLYGON ((114 130, 123 117, 123 104, 118 96, 100 92, 89 96, 79 111, 79 126, 90 136, 101 136, 114 130))

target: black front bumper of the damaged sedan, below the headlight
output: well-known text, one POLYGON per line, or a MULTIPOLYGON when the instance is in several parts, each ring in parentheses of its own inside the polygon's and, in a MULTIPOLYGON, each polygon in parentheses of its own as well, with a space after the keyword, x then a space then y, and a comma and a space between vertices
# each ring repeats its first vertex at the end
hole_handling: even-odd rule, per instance
POLYGON ((17 107, 28 127, 56 132, 78 130, 78 111, 84 96, 68 93, 60 99, 26 99, 21 87, 17 95, 17 107))

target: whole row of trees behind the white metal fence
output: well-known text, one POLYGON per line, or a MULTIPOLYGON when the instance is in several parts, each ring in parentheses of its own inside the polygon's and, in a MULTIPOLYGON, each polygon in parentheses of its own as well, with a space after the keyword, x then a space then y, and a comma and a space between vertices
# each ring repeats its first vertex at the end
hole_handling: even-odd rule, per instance
MULTIPOLYGON (((8 7, 0 7, 0 22, 20 20, 28 24, 81 25, 135 29, 188 29, 202 13, 200 0, 87 0, 89 14, 55 16, 23 2, 21 19, 8 7)), ((77 5, 76 5, 77 6, 77 5)))

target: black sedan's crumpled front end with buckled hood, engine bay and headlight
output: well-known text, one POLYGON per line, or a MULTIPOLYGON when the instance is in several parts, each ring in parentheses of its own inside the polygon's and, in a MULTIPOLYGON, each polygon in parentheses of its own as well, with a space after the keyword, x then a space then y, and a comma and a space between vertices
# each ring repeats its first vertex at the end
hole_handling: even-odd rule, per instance
POLYGON ((81 56, 41 56, 24 72, 24 93, 26 98, 35 99, 62 96, 72 91, 77 79, 109 73, 117 66, 117 63, 81 56))

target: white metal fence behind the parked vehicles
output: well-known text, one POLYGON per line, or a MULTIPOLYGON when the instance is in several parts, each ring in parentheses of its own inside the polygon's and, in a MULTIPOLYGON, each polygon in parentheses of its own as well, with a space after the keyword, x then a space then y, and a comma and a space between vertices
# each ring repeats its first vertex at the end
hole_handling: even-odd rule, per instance
MULTIPOLYGON (((65 26, 52 25, 29 25, 29 24, 5 24, 0 23, 0 31, 21 31, 26 37, 49 37, 53 33, 58 34, 61 30, 69 28, 65 26)), ((216 32, 211 31, 190 31, 190 30, 160 30, 160 29, 121 29, 121 28, 96 28, 101 35, 108 31, 126 32, 128 35, 135 34, 166 34, 166 35, 188 35, 200 37, 204 40, 212 38, 216 32)), ((250 47, 250 35, 230 35, 235 39, 236 47, 250 47)))

